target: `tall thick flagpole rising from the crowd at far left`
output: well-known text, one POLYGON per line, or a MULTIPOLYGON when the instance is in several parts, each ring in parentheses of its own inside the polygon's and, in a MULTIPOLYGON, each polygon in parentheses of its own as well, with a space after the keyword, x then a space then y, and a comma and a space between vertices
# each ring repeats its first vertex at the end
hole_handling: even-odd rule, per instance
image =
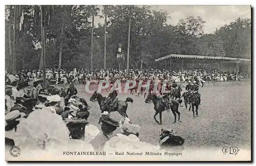
POLYGON ((42 47, 42 59, 43 59, 43 66, 42 66, 42 86, 46 88, 46 70, 45 70, 45 28, 42 23, 43 21, 43 14, 42 5, 40 5, 40 15, 41 15, 41 47, 42 47))

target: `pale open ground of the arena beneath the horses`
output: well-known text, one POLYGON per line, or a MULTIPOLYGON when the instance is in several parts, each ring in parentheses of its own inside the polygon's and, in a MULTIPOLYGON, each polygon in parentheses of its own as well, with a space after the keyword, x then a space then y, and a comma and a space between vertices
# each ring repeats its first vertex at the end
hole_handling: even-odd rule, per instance
MULTIPOLYGON (((84 86, 77 87, 79 97, 87 100, 92 106, 88 118, 90 124, 97 126, 100 110, 97 102, 90 102, 92 94, 84 91, 84 86)), ((184 90, 184 88, 183 88, 184 90)), ((214 148, 237 146, 250 149, 251 146, 251 86, 250 83, 214 85, 209 84, 200 88, 201 105, 199 116, 193 118, 193 112, 179 107, 181 121, 173 124, 174 115, 170 112, 162 113, 162 125, 154 120, 154 105, 145 104, 144 97, 118 94, 119 100, 125 101, 131 97, 134 103, 129 103, 127 115, 134 124, 141 126, 140 139, 151 144, 158 144, 161 128, 170 128, 177 135, 185 138, 184 148, 214 148)), ((104 92, 105 96, 107 93, 104 92)), ((183 100, 183 99, 182 99, 183 100)), ((182 103, 184 106, 184 103, 182 103)), ((122 116, 112 112, 111 117, 120 121, 122 116)), ((157 115, 159 120, 159 115, 157 115)), ((118 129, 117 129, 118 130, 118 129)), ((119 132, 119 130, 118 130, 119 132)))

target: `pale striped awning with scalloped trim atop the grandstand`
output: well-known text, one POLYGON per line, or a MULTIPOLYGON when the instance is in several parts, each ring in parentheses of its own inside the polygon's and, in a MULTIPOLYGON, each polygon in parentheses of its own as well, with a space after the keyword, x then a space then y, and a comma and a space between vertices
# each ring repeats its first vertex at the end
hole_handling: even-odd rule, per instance
POLYGON ((231 57, 210 57, 210 56, 199 56, 199 55, 180 55, 170 54, 161 58, 155 59, 155 62, 166 60, 166 59, 191 59, 191 60, 219 60, 219 61, 236 61, 236 62, 250 62, 251 59, 245 58, 231 58, 231 57))

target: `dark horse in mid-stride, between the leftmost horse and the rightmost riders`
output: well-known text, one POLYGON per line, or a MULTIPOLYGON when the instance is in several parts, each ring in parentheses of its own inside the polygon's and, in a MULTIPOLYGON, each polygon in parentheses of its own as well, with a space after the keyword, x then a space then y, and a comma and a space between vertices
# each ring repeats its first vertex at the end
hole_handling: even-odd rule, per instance
MULTIPOLYGON (((154 115, 154 119, 155 121, 161 125, 162 124, 162 112, 165 111, 165 104, 162 102, 162 100, 160 100, 156 94, 152 94, 149 93, 145 103, 149 103, 150 101, 153 101, 154 103, 154 109, 156 111, 155 115, 154 115), (156 120, 156 115, 159 113, 159 117, 160 117, 160 123, 156 120)), ((178 111, 179 109, 179 103, 176 100, 172 99, 172 103, 170 103, 170 109, 172 110, 173 114, 174 114, 174 123, 176 123, 176 113, 178 114, 178 121, 180 121, 180 112, 178 111)))

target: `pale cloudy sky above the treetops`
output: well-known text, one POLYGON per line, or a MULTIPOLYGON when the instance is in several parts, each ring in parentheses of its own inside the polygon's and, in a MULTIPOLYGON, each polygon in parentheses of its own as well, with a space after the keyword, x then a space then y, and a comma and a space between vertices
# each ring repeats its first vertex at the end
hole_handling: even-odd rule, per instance
MULTIPOLYGON (((250 6, 183 6, 183 5, 154 5, 153 10, 164 10, 170 18, 167 19, 169 25, 177 25, 179 19, 184 19, 188 16, 200 16, 206 23, 204 24, 204 33, 214 33, 214 31, 229 24, 230 22, 240 18, 251 18, 250 6)), ((100 6, 100 8, 102 8, 100 6)), ((103 23, 104 18, 95 18, 95 25, 103 23)))

